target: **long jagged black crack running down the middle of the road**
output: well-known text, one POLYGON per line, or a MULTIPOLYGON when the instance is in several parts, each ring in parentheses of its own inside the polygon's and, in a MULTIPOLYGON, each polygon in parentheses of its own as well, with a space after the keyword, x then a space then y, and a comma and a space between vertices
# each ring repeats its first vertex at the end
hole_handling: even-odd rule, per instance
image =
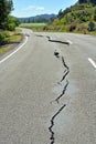
MULTIPOLYGON (((58 43, 68 44, 68 43, 66 43, 66 42, 53 41, 53 40, 51 40, 50 37, 46 37, 46 38, 47 38, 49 41, 51 41, 51 42, 58 42, 58 43)), ((58 55, 60 55, 60 52, 54 52, 54 55, 55 55, 56 58, 60 58, 60 56, 58 56, 58 55)), ((57 83, 57 84, 61 84, 61 85, 62 85, 62 82, 66 80, 66 76, 67 76, 67 74, 70 73, 70 68, 68 68, 68 65, 65 63, 65 60, 64 60, 64 56, 63 56, 63 55, 61 56, 60 60, 62 61, 63 66, 64 66, 64 69, 65 69, 64 75, 63 75, 62 80, 57 83)), ((65 85, 64 85, 64 89, 62 90, 62 93, 55 99, 55 101, 56 101, 57 104, 60 103, 61 97, 64 96, 64 94, 65 94, 65 92, 66 92, 66 90, 67 90, 68 84, 70 84, 70 82, 68 82, 68 80, 66 80, 66 83, 65 83, 65 85)), ((65 106, 66 106, 66 104, 63 104, 63 105, 60 107, 60 110, 58 110, 58 111, 52 116, 52 119, 51 119, 51 126, 49 127, 49 131, 50 131, 50 133, 51 133, 51 137, 50 137, 51 144, 54 144, 54 143, 55 143, 55 132, 53 131, 53 126, 55 126, 55 119, 56 119, 56 117, 58 116, 58 114, 64 110, 65 106)))

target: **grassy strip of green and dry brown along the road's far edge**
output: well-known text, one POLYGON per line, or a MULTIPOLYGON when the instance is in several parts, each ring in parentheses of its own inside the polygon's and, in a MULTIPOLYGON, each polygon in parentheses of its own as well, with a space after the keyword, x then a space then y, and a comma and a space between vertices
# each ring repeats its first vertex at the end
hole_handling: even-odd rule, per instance
MULTIPOLYGON (((96 23, 95 23, 96 24, 96 23)), ((46 23, 21 23, 20 27, 31 29, 34 32, 70 32, 96 35, 96 27, 94 31, 88 31, 88 22, 71 23, 71 24, 46 24, 46 23)))

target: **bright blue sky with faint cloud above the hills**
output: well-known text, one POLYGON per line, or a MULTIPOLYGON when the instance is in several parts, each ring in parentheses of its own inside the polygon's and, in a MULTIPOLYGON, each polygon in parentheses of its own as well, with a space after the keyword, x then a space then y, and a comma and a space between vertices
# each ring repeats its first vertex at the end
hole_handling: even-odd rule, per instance
POLYGON ((58 11, 68 8, 77 0, 12 0, 14 10, 12 16, 18 18, 33 17, 38 14, 57 14, 58 11))

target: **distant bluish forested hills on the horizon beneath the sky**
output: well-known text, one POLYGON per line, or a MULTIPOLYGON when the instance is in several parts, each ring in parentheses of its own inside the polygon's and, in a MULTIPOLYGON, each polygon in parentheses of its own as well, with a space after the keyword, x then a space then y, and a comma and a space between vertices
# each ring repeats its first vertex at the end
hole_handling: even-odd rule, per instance
POLYGON ((40 14, 35 17, 29 17, 29 18, 18 18, 21 23, 41 23, 41 22, 47 22, 50 19, 56 18, 56 14, 40 14))

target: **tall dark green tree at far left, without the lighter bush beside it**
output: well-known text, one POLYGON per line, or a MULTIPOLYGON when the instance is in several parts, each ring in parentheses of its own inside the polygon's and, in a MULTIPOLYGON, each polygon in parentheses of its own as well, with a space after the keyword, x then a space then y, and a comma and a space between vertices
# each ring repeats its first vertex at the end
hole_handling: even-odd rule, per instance
POLYGON ((0 29, 6 29, 4 22, 12 10, 12 0, 0 0, 0 29))

